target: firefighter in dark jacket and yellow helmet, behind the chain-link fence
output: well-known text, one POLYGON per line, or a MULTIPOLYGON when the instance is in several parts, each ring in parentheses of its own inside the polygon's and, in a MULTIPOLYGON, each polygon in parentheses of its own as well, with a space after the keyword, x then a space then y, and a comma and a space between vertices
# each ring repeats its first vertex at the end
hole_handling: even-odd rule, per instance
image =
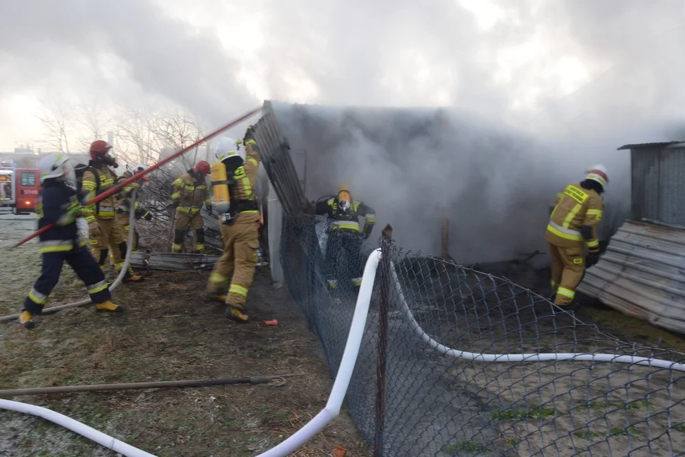
POLYGON ((343 184, 338 189, 338 194, 326 201, 316 203, 316 214, 326 214, 332 224, 328 229, 328 241, 326 243, 325 269, 329 288, 338 286, 336 269, 340 265, 338 255, 347 256, 352 269, 353 286, 361 286, 364 266, 360 260, 362 238, 367 239, 371 235, 373 225, 376 223, 376 215, 373 208, 352 198, 349 186, 343 184), (364 228, 360 230, 359 217, 364 217, 364 228))

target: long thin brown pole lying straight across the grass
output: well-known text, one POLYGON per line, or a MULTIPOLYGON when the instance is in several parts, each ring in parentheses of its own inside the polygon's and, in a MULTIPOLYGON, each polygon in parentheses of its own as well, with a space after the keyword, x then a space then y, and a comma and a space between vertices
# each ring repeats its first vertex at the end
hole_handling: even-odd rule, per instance
POLYGON ((97 391, 124 391, 127 389, 140 388, 169 388, 169 387, 207 387, 226 386, 233 384, 267 384, 278 381, 273 386, 282 386, 286 378, 300 376, 299 373, 287 375, 250 376, 249 378, 217 378, 211 380, 186 380, 186 381, 151 381, 151 382, 125 382, 120 384, 90 384, 82 386, 53 386, 14 388, 0 391, 0 397, 17 397, 19 395, 38 395, 43 393, 73 393, 73 392, 97 392, 97 391))

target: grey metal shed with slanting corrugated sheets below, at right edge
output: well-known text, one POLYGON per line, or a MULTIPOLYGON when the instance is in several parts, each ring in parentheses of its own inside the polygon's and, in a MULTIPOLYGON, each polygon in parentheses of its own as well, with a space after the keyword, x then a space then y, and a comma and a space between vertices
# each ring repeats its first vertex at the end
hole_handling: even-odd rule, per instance
POLYGON ((578 291, 631 316, 685 333, 685 143, 625 145, 630 219, 578 291))

